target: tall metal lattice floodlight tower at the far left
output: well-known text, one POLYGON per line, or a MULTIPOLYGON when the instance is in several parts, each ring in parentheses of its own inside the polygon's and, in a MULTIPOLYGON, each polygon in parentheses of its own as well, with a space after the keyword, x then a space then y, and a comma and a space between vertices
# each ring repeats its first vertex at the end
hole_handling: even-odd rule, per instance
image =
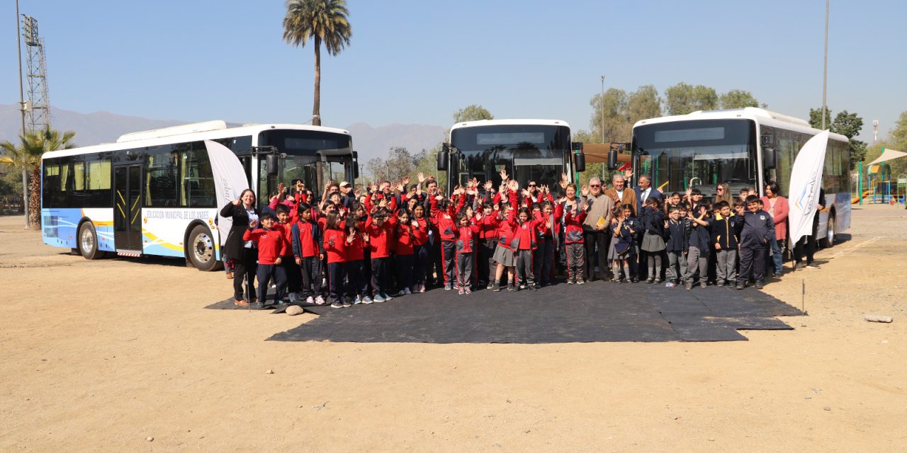
POLYGON ((25 126, 28 130, 44 130, 51 125, 51 101, 47 94, 47 64, 44 59, 44 38, 38 36, 38 21, 22 14, 22 36, 28 76, 28 101, 25 126))

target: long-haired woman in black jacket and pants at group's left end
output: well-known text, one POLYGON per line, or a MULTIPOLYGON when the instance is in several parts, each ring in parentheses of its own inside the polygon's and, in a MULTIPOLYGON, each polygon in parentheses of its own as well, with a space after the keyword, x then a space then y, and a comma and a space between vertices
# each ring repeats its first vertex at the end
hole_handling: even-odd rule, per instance
POLYGON ((233 277, 233 304, 248 306, 249 302, 255 303, 255 273, 257 270, 258 249, 251 241, 243 241, 242 234, 249 228, 249 222, 258 220, 261 212, 255 207, 255 192, 247 188, 242 191, 239 198, 229 202, 220 209, 223 217, 232 217, 233 226, 230 226, 227 241, 224 243, 224 253, 233 261, 235 275, 233 277), (242 276, 246 275, 249 281, 249 301, 243 294, 242 276))

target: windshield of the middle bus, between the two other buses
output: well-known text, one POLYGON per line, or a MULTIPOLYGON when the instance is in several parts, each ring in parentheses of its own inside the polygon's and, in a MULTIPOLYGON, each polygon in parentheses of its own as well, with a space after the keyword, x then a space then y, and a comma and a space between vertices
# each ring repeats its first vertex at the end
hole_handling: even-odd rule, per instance
POLYGON ((451 145, 463 153, 454 184, 476 178, 501 184, 501 170, 522 186, 529 181, 554 187, 570 153, 570 128, 554 125, 493 125, 454 129, 451 145))

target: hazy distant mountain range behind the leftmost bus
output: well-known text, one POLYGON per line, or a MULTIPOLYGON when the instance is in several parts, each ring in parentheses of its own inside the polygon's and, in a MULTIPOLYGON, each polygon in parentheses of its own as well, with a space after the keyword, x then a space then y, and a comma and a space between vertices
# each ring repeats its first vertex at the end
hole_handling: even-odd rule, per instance
MULTIPOLYGON (((149 120, 106 111, 85 114, 51 108, 51 123, 54 129, 75 130, 75 143, 79 146, 110 143, 126 132, 166 128, 185 122, 149 120)), ((15 142, 21 124, 18 105, 0 104, 0 141, 15 142)), ((423 124, 389 124, 374 128, 364 122, 357 122, 343 129, 349 130, 353 135, 353 146, 359 151, 359 160, 362 163, 368 159, 384 158, 388 149, 396 146, 405 147, 413 154, 422 149, 434 148, 444 141, 446 131, 442 126, 423 124)))

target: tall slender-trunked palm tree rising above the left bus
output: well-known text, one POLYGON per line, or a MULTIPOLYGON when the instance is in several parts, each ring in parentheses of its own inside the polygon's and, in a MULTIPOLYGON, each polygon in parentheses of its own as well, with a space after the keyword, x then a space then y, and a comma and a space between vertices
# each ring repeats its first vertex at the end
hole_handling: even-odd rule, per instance
POLYGON ((315 100, 312 124, 321 125, 321 44, 336 56, 353 34, 345 0, 287 0, 283 39, 296 46, 315 40, 315 100))

